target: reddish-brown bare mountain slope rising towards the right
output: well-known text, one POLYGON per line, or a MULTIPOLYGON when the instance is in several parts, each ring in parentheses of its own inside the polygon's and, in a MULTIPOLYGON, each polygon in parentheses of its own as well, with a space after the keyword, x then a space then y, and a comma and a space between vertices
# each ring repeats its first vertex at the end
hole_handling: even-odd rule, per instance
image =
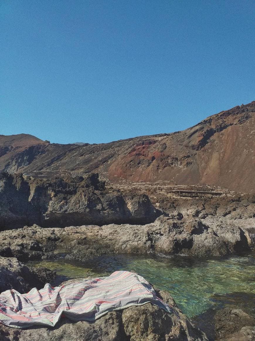
POLYGON ((109 167, 133 181, 255 188, 255 102, 223 111, 192 128, 139 142, 109 167))

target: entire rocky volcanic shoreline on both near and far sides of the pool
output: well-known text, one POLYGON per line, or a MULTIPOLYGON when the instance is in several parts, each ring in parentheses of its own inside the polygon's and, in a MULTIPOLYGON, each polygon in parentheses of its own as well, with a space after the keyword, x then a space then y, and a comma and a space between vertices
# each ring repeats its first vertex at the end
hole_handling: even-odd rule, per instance
MULTIPOLYGON (((53 259, 59 247, 69 250, 67 259, 78 261, 104 254, 214 257, 254 251, 254 195, 185 200, 160 190, 109 189, 97 174, 42 180, 4 173, 0 199, 1 292, 27 292, 52 282, 54 271, 23 263, 53 259)), ((102 341, 253 338, 254 318, 238 307, 210 310, 191 322, 168 292, 158 295, 179 319, 146 304, 108 313, 95 323, 63 318, 52 329, 0 325, 0 340, 73 340, 74 335, 76 340, 102 341)))

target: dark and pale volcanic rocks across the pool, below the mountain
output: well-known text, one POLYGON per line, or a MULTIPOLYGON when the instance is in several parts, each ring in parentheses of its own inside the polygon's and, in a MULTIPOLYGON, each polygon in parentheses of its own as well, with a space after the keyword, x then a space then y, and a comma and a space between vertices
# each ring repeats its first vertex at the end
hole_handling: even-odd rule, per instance
POLYGON ((148 194, 150 199, 139 191, 107 189, 97 174, 52 180, 2 174, 2 228, 30 222, 50 228, 0 232, 0 255, 47 258, 57 244, 79 260, 105 253, 210 257, 254 248, 254 196, 189 200, 160 188, 148 194))

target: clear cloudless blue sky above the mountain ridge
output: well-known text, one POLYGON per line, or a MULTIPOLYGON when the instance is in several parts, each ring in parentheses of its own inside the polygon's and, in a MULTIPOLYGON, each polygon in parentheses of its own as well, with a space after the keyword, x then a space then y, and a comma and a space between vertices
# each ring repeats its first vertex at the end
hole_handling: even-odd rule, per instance
POLYGON ((254 1, 1 0, 0 134, 101 143, 255 99, 254 1))

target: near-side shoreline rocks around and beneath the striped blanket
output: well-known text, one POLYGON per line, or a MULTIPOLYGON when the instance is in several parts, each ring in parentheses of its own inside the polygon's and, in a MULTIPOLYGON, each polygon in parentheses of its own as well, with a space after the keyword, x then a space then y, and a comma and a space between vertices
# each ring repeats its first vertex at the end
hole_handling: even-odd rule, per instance
MULTIPOLYGON (((41 287, 55 278, 56 273, 45 268, 29 268, 16 258, 0 257, 1 291, 11 288, 21 293, 41 287)), ((81 281, 68 280, 61 284, 81 281)), ((157 296, 173 307, 169 314, 147 303, 140 307, 109 312, 95 322, 72 322, 63 317, 54 328, 39 326, 16 329, 0 324, 0 340, 253 340, 254 316, 239 308, 210 308, 192 318, 185 316, 167 291, 156 289, 157 296)))

